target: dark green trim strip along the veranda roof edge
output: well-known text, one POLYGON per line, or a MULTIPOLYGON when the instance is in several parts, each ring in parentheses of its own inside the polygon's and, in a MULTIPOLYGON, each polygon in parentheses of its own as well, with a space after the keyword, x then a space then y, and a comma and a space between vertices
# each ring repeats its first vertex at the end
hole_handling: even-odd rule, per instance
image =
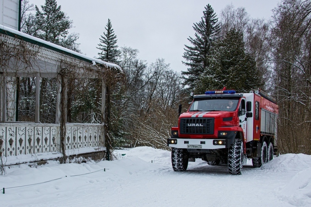
MULTIPOLYGON (((58 48, 53 47, 53 46, 50 46, 50 45, 48 45, 48 44, 38 42, 38 41, 33 40, 33 39, 31 39, 31 38, 27 38, 27 37, 24 37, 24 36, 21 36, 21 35, 18 35, 18 34, 9 32, 9 31, 4 30, 4 29, 1 29, 1 28, 0 28, 0 33, 6 34, 6 35, 11 36, 11 37, 14 37, 14 38, 20 38, 20 39, 22 39, 22 40, 24 40, 24 41, 26 41, 26 42, 29 42, 29 43, 38 45, 38 46, 40 46, 40 47, 45 47, 45 48, 51 49, 51 50, 53 50, 53 51, 62 53, 62 54, 64 54, 64 55, 68 55, 68 56, 71 56, 71 57, 74 57, 74 58, 77 58, 77 59, 79 59, 79 60, 82 60, 82 61, 85 61, 85 62, 88 62, 88 63, 92 64, 92 61, 89 60, 89 59, 86 59, 86 58, 84 58, 84 57, 78 56, 78 55, 76 55, 76 54, 72 54, 72 53, 70 53, 70 52, 63 51, 63 50, 61 50, 61 49, 58 49, 58 48)), ((61 46, 61 47, 62 47, 62 46, 61 46)), ((102 65, 102 64, 99 63, 99 65, 102 65)), ((107 67, 108 67, 108 66, 107 66, 107 67)))

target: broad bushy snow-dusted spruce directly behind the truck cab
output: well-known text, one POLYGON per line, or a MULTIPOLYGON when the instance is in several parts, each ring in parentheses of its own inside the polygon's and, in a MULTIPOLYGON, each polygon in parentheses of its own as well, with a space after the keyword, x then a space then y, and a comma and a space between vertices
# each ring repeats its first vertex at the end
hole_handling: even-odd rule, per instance
POLYGON ((199 80, 201 90, 221 89, 224 86, 238 92, 261 88, 259 71, 254 58, 245 52, 243 34, 231 29, 219 40, 209 56, 210 65, 199 80))

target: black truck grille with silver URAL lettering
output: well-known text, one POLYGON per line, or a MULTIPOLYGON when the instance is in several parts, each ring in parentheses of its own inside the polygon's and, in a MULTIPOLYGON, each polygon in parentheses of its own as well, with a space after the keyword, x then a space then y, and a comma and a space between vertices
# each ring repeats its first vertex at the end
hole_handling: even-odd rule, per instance
POLYGON ((182 118, 181 134, 214 134, 214 118, 182 118))

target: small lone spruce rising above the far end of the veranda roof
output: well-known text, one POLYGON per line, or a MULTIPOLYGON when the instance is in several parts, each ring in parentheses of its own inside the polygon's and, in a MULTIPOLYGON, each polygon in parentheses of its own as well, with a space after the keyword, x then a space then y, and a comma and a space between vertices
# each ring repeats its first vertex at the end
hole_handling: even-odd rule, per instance
POLYGON ((100 49, 101 52, 98 53, 100 56, 99 59, 103 61, 107 61, 110 63, 118 63, 118 57, 120 55, 120 51, 117 49, 117 36, 114 34, 114 29, 112 29, 111 21, 108 19, 108 23, 105 27, 106 32, 104 32, 104 36, 100 35, 101 38, 100 44, 98 44, 97 49, 100 49))

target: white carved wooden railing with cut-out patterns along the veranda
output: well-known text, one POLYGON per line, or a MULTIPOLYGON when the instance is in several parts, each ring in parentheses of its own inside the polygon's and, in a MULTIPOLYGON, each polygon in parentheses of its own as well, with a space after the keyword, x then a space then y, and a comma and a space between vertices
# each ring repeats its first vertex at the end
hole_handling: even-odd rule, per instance
MULTIPOLYGON (((66 124, 65 147, 75 150, 104 147, 101 124, 66 124)), ((4 156, 60 152, 59 124, 0 123, 0 151, 4 156)))

